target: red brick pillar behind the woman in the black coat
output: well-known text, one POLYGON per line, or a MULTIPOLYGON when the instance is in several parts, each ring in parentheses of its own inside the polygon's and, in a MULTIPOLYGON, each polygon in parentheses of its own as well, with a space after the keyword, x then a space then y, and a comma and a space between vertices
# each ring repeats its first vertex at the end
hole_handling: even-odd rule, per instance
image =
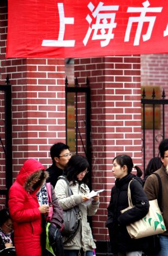
POLYGON ((111 173, 116 154, 127 153, 141 165, 140 57, 82 58, 74 61, 79 84, 90 80, 92 189, 105 189, 93 217, 94 237, 108 240, 106 207, 114 184, 111 173))

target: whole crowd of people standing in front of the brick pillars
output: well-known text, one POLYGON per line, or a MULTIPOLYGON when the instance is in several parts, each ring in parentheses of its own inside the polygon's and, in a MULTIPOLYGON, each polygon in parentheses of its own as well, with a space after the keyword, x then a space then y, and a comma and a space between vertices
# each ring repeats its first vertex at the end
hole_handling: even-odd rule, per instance
MULTIPOLYGON (((114 255, 141 256, 150 246, 148 237, 133 240, 128 234, 127 225, 146 216, 149 200, 158 198, 158 181, 155 175, 151 175, 153 172, 158 173, 161 179, 161 208, 167 229, 160 235, 160 252, 155 255, 168 255, 168 139, 162 140, 158 149, 160 157, 150 160, 143 180, 141 169, 133 164, 130 156, 121 154, 113 159, 112 173, 115 185, 111 188, 106 227, 114 255), (136 169, 136 174, 133 168, 136 169), (122 213, 122 210, 129 206, 129 184, 134 207, 122 213)), ((89 163, 83 156, 72 156, 68 145, 64 143, 54 144, 50 148, 50 156, 53 164, 47 170, 36 159, 27 159, 11 186, 8 209, 0 211, 1 253, 6 248, 15 248, 17 256, 51 255, 49 250, 46 250, 46 240, 50 239, 46 232, 48 222, 50 232, 54 228, 54 235, 59 234, 59 247, 62 246, 60 256, 92 256, 93 251, 95 252, 96 244, 88 216, 96 214, 100 196, 97 194, 92 199, 88 196, 89 163), (50 193, 47 183, 50 184, 50 193), (72 208, 79 209, 81 221, 75 234, 67 238, 63 235, 63 212, 72 208), (51 212, 52 217, 49 220, 51 212)), ((56 238, 54 239, 56 241, 56 238)), ((52 255, 59 256, 53 248, 52 246, 52 255)))

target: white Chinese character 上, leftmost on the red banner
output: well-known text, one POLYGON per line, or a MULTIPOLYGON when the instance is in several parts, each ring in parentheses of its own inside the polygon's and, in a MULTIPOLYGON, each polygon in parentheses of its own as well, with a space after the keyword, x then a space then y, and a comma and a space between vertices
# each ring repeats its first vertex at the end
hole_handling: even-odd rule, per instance
POLYGON ((63 3, 58 3, 58 12, 59 12, 59 36, 58 40, 43 40, 42 46, 58 46, 58 47, 73 47, 75 40, 64 40, 64 33, 66 24, 74 24, 74 18, 67 18, 64 16, 64 7, 63 3))

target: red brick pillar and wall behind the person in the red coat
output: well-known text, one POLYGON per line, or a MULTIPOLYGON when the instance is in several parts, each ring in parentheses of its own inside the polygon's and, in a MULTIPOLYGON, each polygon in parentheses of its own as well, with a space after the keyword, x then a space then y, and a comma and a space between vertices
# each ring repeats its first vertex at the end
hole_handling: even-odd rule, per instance
POLYGON ((12 85, 13 178, 27 158, 45 167, 52 164, 49 149, 65 142, 64 60, 6 60, 7 1, 1 1, 1 76, 12 85))

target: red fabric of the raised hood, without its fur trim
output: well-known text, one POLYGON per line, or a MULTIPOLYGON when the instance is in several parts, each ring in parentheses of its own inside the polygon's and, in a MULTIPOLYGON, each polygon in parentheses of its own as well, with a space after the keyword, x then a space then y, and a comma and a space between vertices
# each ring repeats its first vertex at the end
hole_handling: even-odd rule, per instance
POLYGON ((30 158, 21 167, 21 170, 18 173, 16 180, 23 186, 25 184, 25 181, 27 180, 27 177, 39 170, 45 171, 44 166, 38 160, 30 158))

